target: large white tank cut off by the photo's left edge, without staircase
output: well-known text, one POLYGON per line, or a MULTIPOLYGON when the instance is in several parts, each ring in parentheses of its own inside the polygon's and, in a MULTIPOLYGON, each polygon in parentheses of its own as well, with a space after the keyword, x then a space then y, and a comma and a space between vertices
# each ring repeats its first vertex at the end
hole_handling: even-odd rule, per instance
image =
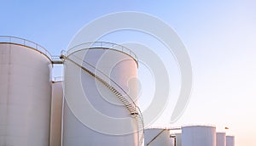
POLYGON ((1 146, 49 145, 52 64, 30 43, 0 43, 1 146))

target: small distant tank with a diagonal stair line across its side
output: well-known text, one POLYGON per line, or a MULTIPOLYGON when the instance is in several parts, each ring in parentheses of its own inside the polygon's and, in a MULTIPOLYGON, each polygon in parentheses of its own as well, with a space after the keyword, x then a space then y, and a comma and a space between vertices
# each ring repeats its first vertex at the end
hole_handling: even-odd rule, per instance
POLYGON ((170 146, 170 131, 167 129, 146 129, 145 130, 145 146, 170 146))

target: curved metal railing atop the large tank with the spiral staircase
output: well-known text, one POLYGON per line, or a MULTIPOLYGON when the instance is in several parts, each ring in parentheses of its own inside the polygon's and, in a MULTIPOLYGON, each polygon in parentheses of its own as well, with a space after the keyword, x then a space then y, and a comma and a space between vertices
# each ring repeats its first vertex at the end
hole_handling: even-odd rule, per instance
POLYGON ((74 46, 73 48, 69 48, 67 51, 67 56, 71 53, 80 51, 82 49, 89 49, 89 48, 108 48, 108 49, 117 50, 131 56, 131 58, 135 59, 135 61, 138 64, 136 53, 133 53, 129 48, 125 48, 124 46, 121 46, 119 44, 112 43, 112 42, 85 42, 77 46, 74 46))

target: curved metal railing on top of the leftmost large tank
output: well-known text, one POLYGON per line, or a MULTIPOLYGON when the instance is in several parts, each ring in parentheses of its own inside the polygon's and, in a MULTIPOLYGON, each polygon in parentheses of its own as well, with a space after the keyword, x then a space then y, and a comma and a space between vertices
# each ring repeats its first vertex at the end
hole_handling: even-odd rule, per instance
POLYGON ((47 56, 49 59, 52 59, 51 54, 49 53, 49 51, 47 51, 46 48, 42 47, 36 42, 32 42, 24 38, 20 38, 16 36, 0 36, 0 43, 18 44, 18 45, 26 46, 29 48, 33 48, 40 53, 44 53, 44 55, 47 56))

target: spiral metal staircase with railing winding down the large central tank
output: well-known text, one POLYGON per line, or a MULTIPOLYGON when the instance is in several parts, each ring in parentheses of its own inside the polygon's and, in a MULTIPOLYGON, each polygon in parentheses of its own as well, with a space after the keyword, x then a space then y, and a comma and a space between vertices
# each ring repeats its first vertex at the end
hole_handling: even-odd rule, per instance
MULTIPOLYGON (((72 55, 74 58, 79 59, 77 56, 72 55)), ((125 105, 125 108, 129 111, 131 114, 131 117, 134 118, 137 121, 137 133, 138 133, 138 139, 139 139, 139 145, 143 144, 143 138, 144 138, 144 124, 143 124, 143 115, 137 104, 134 103, 133 99, 130 97, 128 93, 125 92, 125 90, 119 86, 119 84, 115 81, 113 81, 110 77, 108 77, 105 73, 103 73, 101 70, 96 69, 93 65, 90 65, 90 63, 84 61, 83 59, 79 59, 79 61, 82 61, 84 64, 87 65, 87 68, 84 67, 84 65, 79 65, 77 62, 73 61, 73 59, 70 59, 70 57, 65 57, 62 55, 62 58, 68 59, 69 61, 73 62, 73 64, 78 65, 81 67, 84 71, 90 74, 90 76, 93 76, 96 78, 96 80, 102 82, 102 84, 105 87, 108 87, 108 89, 114 93, 114 95, 119 98, 119 100, 125 105), (90 69, 89 69, 90 68, 90 69), (94 70, 94 71, 93 71, 94 70), (97 73, 96 73, 97 71, 97 73), (105 79, 102 79, 105 78, 105 79), (108 81, 111 83, 108 83, 108 81), (117 88, 119 90, 117 90, 117 88), (125 97, 124 97, 125 94, 125 97)))

